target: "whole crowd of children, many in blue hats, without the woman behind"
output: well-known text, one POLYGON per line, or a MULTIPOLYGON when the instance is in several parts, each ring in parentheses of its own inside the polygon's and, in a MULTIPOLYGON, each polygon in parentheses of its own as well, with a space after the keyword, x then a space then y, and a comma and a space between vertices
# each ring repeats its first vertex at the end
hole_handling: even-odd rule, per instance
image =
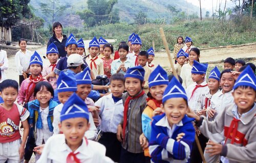
POLYGON ((94 37, 86 55, 71 34, 67 56, 58 59, 51 43, 43 65, 20 39, 20 86, 11 79, 0 85, 0 162, 29 162, 33 153, 44 163, 202 162, 199 148, 207 162, 255 162, 255 65, 227 58, 222 72, 207 75, 200 50, 180 36, 169 70, 176 78, 153 62, 153 48, 141 50, 138 35, 127 41, 114 54, 94 37), (109 86, 93 85, 98 75, 109 86))

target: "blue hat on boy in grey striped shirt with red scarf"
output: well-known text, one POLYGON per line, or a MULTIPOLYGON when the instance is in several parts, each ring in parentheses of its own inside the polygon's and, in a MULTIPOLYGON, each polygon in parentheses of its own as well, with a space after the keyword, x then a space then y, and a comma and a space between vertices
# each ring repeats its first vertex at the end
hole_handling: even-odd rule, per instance
POLYGON ((124 78, 134 77, 140 79, 141 81, 144 81, 144 74, 145 70, 142 66, 135 66, 126 71, 126 73, 124 74, 124 78))

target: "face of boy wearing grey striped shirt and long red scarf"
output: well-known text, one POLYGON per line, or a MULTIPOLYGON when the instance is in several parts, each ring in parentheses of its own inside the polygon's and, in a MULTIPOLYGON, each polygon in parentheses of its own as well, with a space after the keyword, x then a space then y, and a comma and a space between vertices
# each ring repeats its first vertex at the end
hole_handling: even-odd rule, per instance
POLYGON ((129 95, 133 97, 141 91, 142 87, 144 87, 144 82, 141 84, 141 81, 138 78, 126 77, 124 87, 129 95))

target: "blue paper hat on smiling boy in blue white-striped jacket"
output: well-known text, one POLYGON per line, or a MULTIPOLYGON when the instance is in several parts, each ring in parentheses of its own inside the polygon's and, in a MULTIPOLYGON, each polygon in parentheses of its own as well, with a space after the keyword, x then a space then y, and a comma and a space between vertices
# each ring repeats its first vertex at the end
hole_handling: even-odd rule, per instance
POLYGON ((172 80, 170 80, 170 83, 166 87, 164 93, 163 93, 163 99, 162 102, 164 103, 166 100, 170 98, 184 98, 187 101, 187 95, 180 84, 180 82, 177 80, 176 77, 173 77, 172 80))

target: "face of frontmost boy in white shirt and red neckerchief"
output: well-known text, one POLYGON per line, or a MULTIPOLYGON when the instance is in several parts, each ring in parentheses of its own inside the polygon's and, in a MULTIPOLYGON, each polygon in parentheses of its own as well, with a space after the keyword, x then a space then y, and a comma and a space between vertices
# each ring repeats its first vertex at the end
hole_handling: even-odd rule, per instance
POLYGON ((67 145, 75 151, 82 144, 84 132, 90 128, 85 118, 70 118, 59 123, 59 130, 65 135, 67 145))

